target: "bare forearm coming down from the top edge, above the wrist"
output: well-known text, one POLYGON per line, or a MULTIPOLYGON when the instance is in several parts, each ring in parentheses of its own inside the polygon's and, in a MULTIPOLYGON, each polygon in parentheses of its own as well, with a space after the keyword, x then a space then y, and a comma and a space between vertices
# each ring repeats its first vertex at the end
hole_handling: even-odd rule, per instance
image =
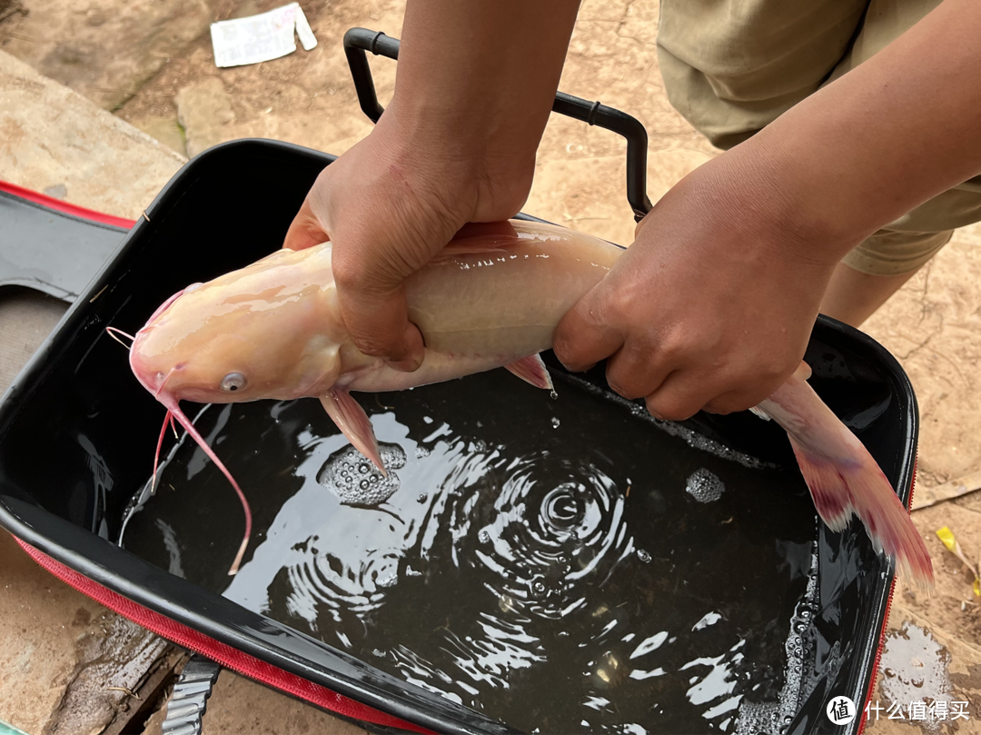
POLYGON ((389 107, 399 129, 448 158, 534 167, 578 6, 409 0, 389 107))

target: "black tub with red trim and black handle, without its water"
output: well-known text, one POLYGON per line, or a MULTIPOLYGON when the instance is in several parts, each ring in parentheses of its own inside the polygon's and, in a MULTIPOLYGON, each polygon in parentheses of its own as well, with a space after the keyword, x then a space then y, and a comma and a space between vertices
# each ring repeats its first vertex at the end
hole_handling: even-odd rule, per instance
MULTIPOLYGON (((345 45, 362 107, 377 119, 381 108, 363 52, 394 57, 397 41, 358 30, 348 34, 345 45)), ((629 198, 635 214, 642 216, 649 208, 643 127, 622 113, 567 95, 556 99, 555 110, 628 137, 629 198)), ((366 656, 351 656, 246 609, 117 544, 130 500, 146 483, 163 409, 133 379, 126 353, 105 327, 133 332, 165 298, 187 284, 207 281, 279 247, 309 186, 333 160, 281 142, 241 140, 216 146, 181 169, 4 396, 0 525, 39 563, 85 594, 192 651, 314 706, 382 728, 517 735, 519 729, 496 719, 493 712, 454 704, 380 670, 366 656)), ((544 357, 554 373, 564 372, 551 354, 544 357)), ((869 448, 908 504, 917 414, 899 364, 875 341, 823 317, 806 359, 817 393, 869 448)), ((609 394, 603 365, 581 377, 587 388, 609 394)), ((515 391, 525 388, 516 379, 511 385, 515 391)), ((612 402, 610 406, 612 410, 612 402)), ((196 410, 189 404, 184 409, 190 416, 196 410)), ((788 492, 806 498, 786 435, 772 422, 748 413, 699 414, 685 422, 685 428, 718 446, 782 467, 789 478, 788 492)), ((597 433, 597 445, 603 441, 597 433)), ((637 457, 639 463, 649 459, 637 457)), ((754 503, 752 512, 765 515, 765 499, 749 502, 754 503)), ((856 733, 873 682, 893 570, 872 550, 860 525, 852 522, 845 532, 832 533, 812 506, 799 507, 806 507, 807 514, 796 533, 801 543, 814 549, 814 604, 809 618, 799 623, 805 653, 796 674, 794 707, 783 712, 780 721, 762 723, 759 731, 856 733), (852 699, 858 710, 844 726, 825 714, 829 703, 840 697, 852 699)), ((232 538, 236 546, 240 517, 232 511, 216 513, 216 518, 216 534, 232 538)), ((776 536, 766 536, 770 526, 760 528, 756 542, 776 543, 776 536)), ((710 562, 722 574, 727 565, 735 569, 746 563, 725 557, 710 562)), ((560 683, 556 692, 561 692, 560 683)), ((657 724, 650 726, 656 730, 657 724)), ((691 731, 707 727, 706 722, 705 728, 691 731)))

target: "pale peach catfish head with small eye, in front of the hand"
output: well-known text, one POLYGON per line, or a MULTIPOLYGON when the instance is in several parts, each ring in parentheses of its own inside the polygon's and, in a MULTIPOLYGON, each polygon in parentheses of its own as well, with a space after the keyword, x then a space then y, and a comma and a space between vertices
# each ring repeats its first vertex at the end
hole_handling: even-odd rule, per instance
POLYGON ((334 385, 344 335, 329 247, 281 250, 169 298, 129 364, 169 407, 289 399, 334 385))

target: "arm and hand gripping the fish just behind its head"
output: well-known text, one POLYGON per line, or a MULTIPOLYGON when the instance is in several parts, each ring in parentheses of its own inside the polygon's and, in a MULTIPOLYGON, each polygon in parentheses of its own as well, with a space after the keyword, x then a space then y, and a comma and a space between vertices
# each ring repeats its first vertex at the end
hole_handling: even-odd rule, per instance
POLYGON ((391 103, 320 175, 284 242, 333 241, 341 313, 364 352, 417 368, 402 283, 464 224, 524 204, 577 10, 409 0, 391 103))

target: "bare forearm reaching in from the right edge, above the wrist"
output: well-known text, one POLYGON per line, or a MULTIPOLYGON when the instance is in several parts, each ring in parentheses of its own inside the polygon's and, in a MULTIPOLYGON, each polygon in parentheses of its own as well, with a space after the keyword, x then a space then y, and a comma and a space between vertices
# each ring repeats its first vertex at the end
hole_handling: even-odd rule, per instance
POLYGON ((730 153, 816 236, 803 238, 823 248, 813 254, 838 260, 981 172, 979 38, 981 4, 946 0, 730 153))

